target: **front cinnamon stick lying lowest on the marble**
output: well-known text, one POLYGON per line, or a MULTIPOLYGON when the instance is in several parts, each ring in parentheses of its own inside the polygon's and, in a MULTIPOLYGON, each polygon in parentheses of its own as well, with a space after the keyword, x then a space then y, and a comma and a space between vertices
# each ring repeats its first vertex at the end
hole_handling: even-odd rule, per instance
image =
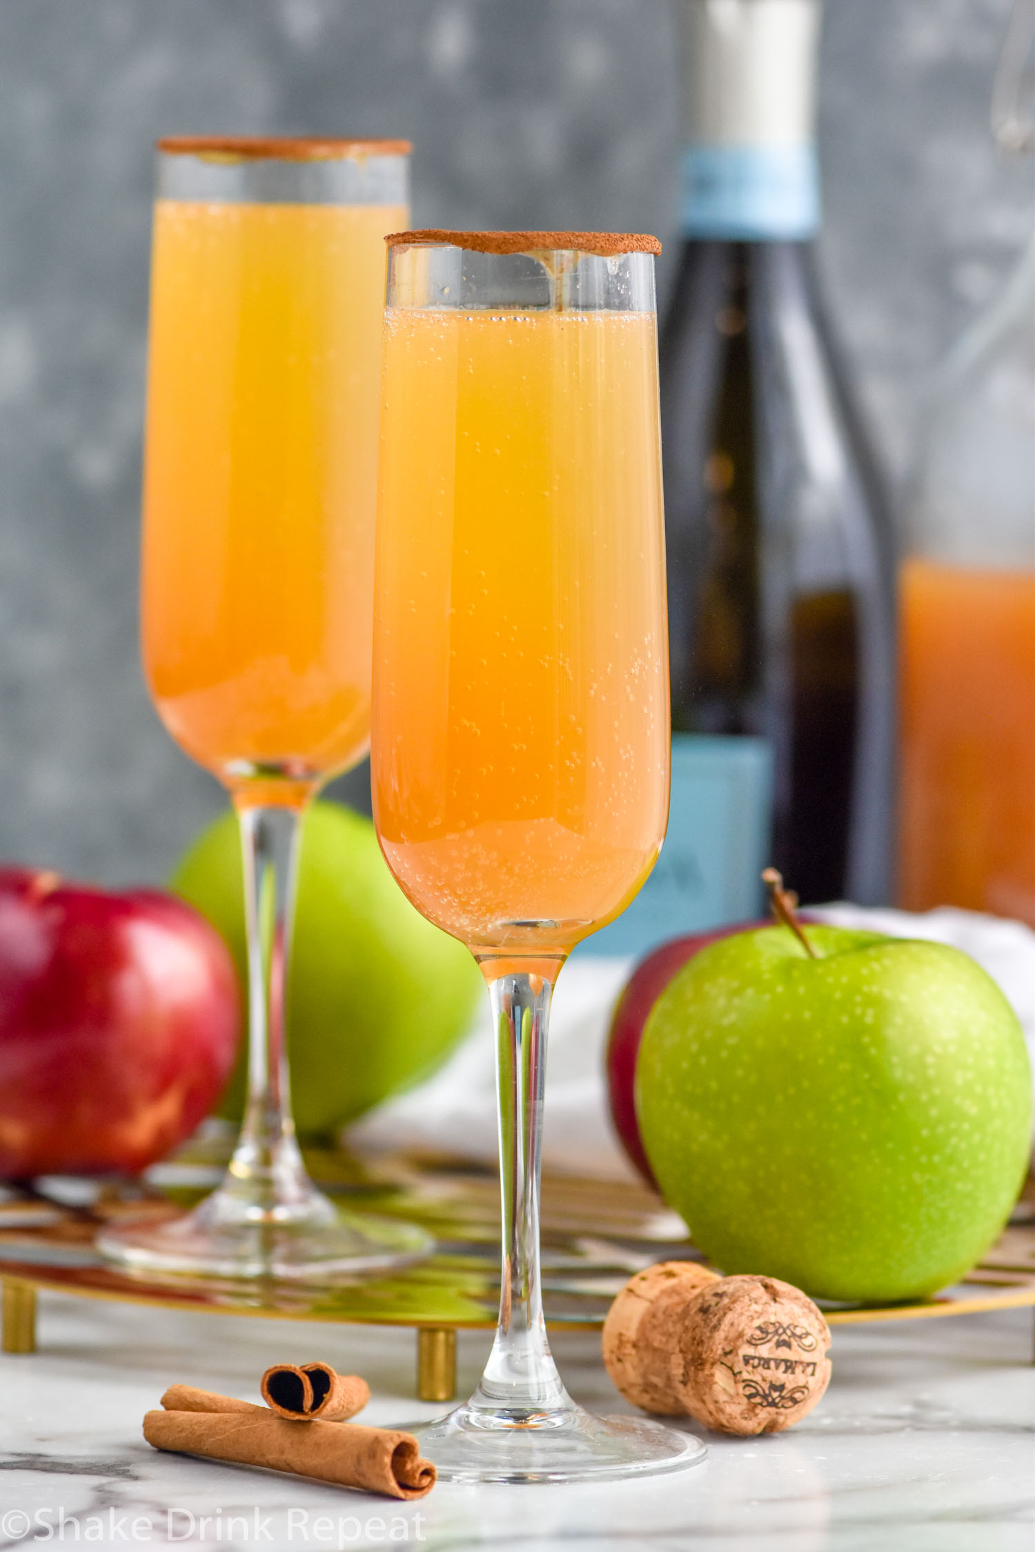
POLYGON ((144 1439, 155 1450, 293 1471, 317 1482, 358 1487, 389 1498, 424 1498, 434 1487, 434 1467, 421 1459, 413 1434, 360 1423, 343 1428, 320 1419, 295 1422, 247 1401, 239 1401, 237 1408, 247 1408, 247 1412, 147 1412, 144 1439))

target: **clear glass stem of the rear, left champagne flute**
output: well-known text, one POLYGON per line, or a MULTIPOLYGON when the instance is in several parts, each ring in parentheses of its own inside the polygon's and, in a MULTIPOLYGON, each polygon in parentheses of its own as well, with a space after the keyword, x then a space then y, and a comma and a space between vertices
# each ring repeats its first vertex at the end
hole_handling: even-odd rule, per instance
POLYGON ((220 1207, 256 1223, 324 1221, 331 1203, 306 1173, 292 1121, 284 1046, 301 813, 239 809, 248 939, 248 1090, 220 1207))

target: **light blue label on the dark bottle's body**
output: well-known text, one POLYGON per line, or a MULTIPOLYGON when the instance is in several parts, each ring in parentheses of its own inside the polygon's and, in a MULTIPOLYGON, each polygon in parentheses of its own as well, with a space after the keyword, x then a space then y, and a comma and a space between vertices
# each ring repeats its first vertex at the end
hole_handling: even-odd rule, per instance
POLYGON ((644 954, 681 933, 757 917, 771 793, 765 739, 673 734, 661 857, 636 899, 579 953, 644 954))

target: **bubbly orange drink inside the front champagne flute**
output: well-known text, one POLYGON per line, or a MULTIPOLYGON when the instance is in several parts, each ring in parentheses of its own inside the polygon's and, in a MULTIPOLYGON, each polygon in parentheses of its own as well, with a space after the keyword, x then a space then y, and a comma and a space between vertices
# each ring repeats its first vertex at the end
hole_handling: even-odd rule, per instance
POLYGON ((377 824, 476 951, 569 950, 661 846, 656 349, 649 312, 388 310, 377 824))

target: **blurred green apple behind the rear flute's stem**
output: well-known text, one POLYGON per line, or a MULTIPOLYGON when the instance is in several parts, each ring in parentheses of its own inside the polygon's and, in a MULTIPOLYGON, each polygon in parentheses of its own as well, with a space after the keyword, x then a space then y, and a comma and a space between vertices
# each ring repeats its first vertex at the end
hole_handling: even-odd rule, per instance
MULTIPOLYGON (((206 829, 172 888, 222 933, 245 976, 244 883, 233 813, 206 829)), ((469 951, 414 911, 374 826, 317 802, 301 841, 287 1037, 301 1136, 327 1136, 427 1077, 469 1024, 484 982, 469 951)), ((244 1060, 222 1103, 239 1116, 244 1060)))

